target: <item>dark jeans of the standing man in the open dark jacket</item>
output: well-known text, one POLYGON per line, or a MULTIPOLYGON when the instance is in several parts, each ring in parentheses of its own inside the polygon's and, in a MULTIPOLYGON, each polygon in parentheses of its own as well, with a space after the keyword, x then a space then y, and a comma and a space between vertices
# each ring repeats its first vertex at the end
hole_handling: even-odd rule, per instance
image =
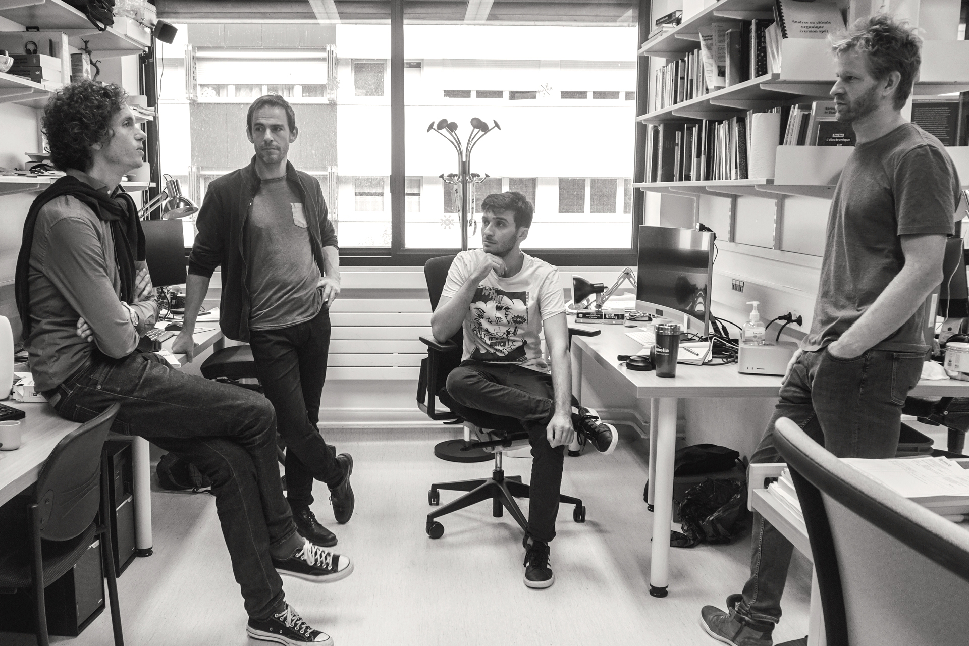
POLYGON ((333 488, 346 476, 316 426, 327 380, 329 333, 329 312, 323 308, 305 323, 252 330, 249 337, 259 382, 276 410, 287 447, 287 498, 294 509, 313 503, 314 477, 333 488))

